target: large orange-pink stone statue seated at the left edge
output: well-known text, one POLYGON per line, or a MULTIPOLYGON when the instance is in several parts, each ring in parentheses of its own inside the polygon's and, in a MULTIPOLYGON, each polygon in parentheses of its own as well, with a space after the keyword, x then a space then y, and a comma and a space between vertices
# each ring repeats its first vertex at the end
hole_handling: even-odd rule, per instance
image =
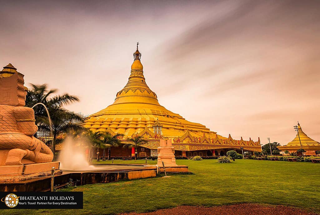
POLYGON ((0 71, 0 166, 51 162, 50 148, 33 135, 38 127, 27 95, 24 75, 12 64, 0 71))

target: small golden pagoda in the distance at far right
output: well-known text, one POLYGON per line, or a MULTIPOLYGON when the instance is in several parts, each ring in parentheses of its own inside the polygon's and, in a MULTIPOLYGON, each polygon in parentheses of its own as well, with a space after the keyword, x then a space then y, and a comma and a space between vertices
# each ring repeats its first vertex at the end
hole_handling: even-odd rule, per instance
POLYGON ((308 137, 301 129, 298 122, 298 132, 296 137, 287 145, 280 146, 278 149, 281 151, 289 151, 290 153, 297 152, 301 147, 306 151, 306 155, 315 155, 316 151, 320 151, 320 143, 308 137), (301 142, 301 144, 300 144, 301 142))

